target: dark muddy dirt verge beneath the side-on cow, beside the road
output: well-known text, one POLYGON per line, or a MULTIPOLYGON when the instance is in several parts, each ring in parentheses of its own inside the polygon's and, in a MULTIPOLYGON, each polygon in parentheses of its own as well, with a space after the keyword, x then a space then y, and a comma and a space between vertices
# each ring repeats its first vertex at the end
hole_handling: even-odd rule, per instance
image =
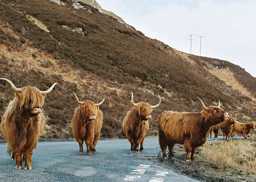
POLYGON ((186 152, 183 145, 174 146, 174 157, 163 159, 162 152, 158 154, 159 162, 163 166, 170 166, 176 173, 187 175, 199 181, 209 182, 254 182, 256 181, 253 173, 245 173, 239 169, 231 169, 230 167, 222 168, 216 163, 200 158, 202 147, 196 151, 196 161, 186 162, 186 152))

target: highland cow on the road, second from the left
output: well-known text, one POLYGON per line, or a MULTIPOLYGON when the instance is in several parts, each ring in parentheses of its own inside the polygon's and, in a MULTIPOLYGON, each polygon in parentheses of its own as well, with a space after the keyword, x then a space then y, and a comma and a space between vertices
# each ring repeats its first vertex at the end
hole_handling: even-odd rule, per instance
POLYGON ((76 94, 74 92, 73 94, 79 103, 72 119, 73 135, 76 142, 79 143, 78 154, 83 154, 83 141, 85 141, 87 146, 86 155, 91 155, 91 153, 96 153, 95 147, 101 133, 103 114, 99 110, 99 105, 104 102, 105 97, 100 103, 95 104, 91 100, 80 102, 76 94))

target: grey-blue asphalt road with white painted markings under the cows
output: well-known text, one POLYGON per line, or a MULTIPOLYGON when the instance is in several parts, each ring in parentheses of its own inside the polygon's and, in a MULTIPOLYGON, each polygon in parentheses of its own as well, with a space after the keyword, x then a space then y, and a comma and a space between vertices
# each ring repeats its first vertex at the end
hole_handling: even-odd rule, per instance
MULTIPOLYGON (((222 137, 218 140, 221 141, 222 137)), ((207 142, 215 142, 209 139, 207 142)), ((32 170, 14 169, 15 161, 6 153, 7 143, 0 143, 0 181, 102 181, 102 182, 195 182, 174 173, 163 160, 158 138, 146 138, 144 151, 129 153, 127 139, 101 140, 96 154, 78 155, 76 142, 38 142, 34 149, 32 170)), ((84 149, 85 149, 84 144, 84 149)), ((184 151, 185 152, 185 151, 184 151)), ((184 159, 185 160, 185 159, 184 159)), ((24 167, 24 164, 23 164, 24 167)))

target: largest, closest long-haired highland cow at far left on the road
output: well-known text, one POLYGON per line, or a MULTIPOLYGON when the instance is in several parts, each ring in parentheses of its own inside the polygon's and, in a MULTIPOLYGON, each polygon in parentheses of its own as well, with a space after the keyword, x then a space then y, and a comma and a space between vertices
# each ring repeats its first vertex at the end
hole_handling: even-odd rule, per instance
POLYGON ((44 99, 57 83, 46 91, 40 91, 31 86, 16 88, 10 80, 0 79, 10 83, 15 91, 15 98, 6 108, 1 122, 2 133, 8 143, 7 152, 12 152, 12 160, 16 161, 15 169, 22 169, 23 153, 24 169, 31 170, 33 149, 37 146, 38 137, 44 128, 44 99))

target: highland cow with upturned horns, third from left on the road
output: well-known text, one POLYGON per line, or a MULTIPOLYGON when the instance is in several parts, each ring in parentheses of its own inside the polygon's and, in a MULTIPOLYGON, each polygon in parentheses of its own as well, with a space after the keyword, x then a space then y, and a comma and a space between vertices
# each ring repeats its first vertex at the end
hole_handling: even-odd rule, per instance
MULTIPOLYGON (((131 91, 132 92, 132 91, 131 91)), ((153 108, 156 108, 161 103, 161 98, 159 97, 159 103, 155 106, 150 106, 146 102, 133 102, 133 93, 131 103, 134 108, 127 112, 122 128, 129 142, 131 142, 130 153, 140 153, 143 151, 143 142, 146 137, 146 131, 148 130, 148 119, 151 119, 151 112, 153 108)))

